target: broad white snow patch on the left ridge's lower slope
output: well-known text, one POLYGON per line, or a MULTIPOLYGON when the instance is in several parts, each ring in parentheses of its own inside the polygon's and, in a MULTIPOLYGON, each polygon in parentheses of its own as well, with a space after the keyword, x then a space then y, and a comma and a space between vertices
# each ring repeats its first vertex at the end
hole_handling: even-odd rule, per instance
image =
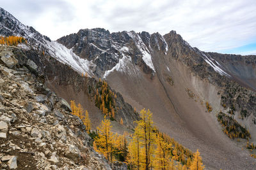
POLYGON ((46 46, 48 47, 52 57, 54 57, 55 59, 59 60, 63 64, 68 64, 74 70, 81 74, 88 73, 88 76, 93 76, 90 67, 94 67, 95 64, 93 64, 89 60, 81 59, 72 52, 72 49, 68 49, 66 46, 61 45, 56 41, 47 41, 46 46))

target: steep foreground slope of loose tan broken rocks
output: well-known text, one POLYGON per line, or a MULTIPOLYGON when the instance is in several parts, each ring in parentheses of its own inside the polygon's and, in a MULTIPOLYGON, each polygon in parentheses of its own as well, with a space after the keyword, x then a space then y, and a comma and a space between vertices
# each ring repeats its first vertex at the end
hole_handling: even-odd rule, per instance
POLYGON ((15 47, 0 46, 0 167, 2 169, 125 169, 93 150, 70 106, 22 63, 15 47))

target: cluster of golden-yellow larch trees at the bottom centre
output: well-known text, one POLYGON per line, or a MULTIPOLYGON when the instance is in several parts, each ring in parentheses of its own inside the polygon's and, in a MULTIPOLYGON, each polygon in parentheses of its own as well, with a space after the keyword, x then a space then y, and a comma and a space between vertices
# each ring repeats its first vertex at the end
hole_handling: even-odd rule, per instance
POLYGON ((128 164, 129 169, 204 169, 198 150, 193 154, 170 136, 157 130, 149 110, 140 111, 134 133, 122 136, 111 132, 106 116, 97 127, 93 147, 109 162, 116 160, 128 164), (129 140, 127 138, 129 137, 129 140))

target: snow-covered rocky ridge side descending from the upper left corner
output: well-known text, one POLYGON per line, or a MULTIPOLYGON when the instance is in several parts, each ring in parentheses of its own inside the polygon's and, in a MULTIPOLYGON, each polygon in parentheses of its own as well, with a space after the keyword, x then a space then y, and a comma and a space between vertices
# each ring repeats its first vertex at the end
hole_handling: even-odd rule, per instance
POLYGON ((94 64, 86 59, 81 59, 76 54, 69 50, 67 47, 61 45, 56 41, 51 41, 47 36, 43 36, 33 27, 28 27, 19 22, 13 15, 5 11, 0 7, 0 35, 3 36, 22 36, 28 40, 27 46, 22 48, 33 48, 35 50, 41 50, 45 53, 49 53, 52 57, 63 64, 70 65, 74 70, 79 73, 88 73, 92 76, 90 67, 94 64))

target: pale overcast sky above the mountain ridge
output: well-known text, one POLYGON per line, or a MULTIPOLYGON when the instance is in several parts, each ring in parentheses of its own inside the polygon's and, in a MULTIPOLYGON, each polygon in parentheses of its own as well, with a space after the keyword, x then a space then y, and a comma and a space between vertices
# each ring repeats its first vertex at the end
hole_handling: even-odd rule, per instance
POLYGON ((0 0, 0 5, 54 40, 95 27, 175 30, 200 50, 256 54, 256 0, 0 0))

